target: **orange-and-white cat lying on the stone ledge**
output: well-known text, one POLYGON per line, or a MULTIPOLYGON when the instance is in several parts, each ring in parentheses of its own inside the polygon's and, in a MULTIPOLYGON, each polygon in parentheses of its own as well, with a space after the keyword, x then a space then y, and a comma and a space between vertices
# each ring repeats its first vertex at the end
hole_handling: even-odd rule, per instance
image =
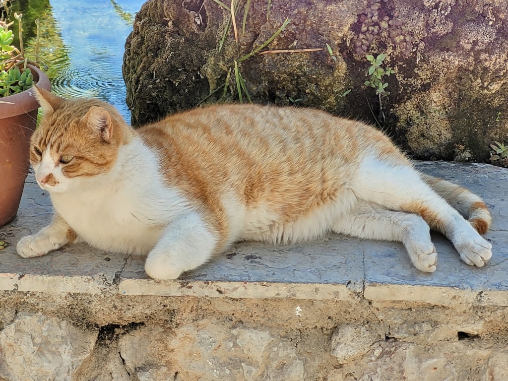
POLYGON ((284 244, 331 231, 400 241, 414 266, 433 272, 430 228, 468 265, 492 256, 480 235, 492 222, 482 200, 419 173, 360 121, 215 105, 135 130, 105 102, 35 92, 43 118, 30 162, 55 213, 18 242, 21 257, 82 241, 147 255, 148 276, 176 279, 236 241, 284 244))

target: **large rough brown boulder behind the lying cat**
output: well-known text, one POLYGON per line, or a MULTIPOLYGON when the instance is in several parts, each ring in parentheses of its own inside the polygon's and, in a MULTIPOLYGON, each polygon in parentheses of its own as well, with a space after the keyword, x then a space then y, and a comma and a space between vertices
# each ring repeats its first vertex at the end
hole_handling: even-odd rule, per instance
POLYGON ((418 158, 488 161, 489 144, 508 136, 506 0, 252 0, 244 32, 247 2, 234 3, 238 47, 230 27, 221 49, 231 12, 213 0, 144 4, 123 65, 133 125, 198 104, 238 102, 234 61, 289 18, 263 49, 289 52, 238 63, 253 102, 378 124, 418 158), (321 50, 295 51, 304 48, 321 50), (380 69, 395 73, 372 80, 366 56, 379 54, 386 55, 380 69))

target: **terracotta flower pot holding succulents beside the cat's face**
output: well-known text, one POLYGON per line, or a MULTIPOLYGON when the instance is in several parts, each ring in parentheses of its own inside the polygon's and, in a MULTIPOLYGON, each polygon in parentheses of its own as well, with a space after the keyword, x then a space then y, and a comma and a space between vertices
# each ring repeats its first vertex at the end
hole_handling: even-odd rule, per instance
MULTIPOLYGON (((51 90, 48 77, 29 65, 34 82, 51 90)), ((0 227, 8 224, 18 211, 28 174, 30 137, 37 124, 39 103, 34 89, 0 98, 0 227), (7 103, 8 102, 8 103, 7 103)))

